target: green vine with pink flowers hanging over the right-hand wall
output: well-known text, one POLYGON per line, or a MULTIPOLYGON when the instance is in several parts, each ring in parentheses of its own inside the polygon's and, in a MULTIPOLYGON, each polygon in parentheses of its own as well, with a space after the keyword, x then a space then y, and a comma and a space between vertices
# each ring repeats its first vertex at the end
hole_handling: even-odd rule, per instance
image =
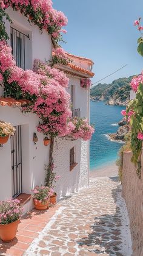
MULTIPOLYGON (((138 30, 141 32, 143 27, 141 26, 141 18, 134 23, 138 26, 138 30)), ((143 38, 138 39, 138 52, 143 56, 143 38)), ((131 100, 127 106, 126 111, 122 110, 122 115, 128 120, 131 126, 131 150, 133 157, 131 161, 135 163, 136 173, 141 178, 141 150, 143 140, 143 73, 139 76, 133 77, 130 82, 131 88, 136 93, 136 98, 131 100)))

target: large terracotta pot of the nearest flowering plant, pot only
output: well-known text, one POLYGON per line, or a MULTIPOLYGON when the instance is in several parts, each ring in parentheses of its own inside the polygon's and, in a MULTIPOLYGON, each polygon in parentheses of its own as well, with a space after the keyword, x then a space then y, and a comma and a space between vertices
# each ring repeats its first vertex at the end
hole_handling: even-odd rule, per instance
POLYGON ((19 222, 20 219, 9 224, 0 224, 0 237, 2 241, 10 242, 15 238, 19 222))

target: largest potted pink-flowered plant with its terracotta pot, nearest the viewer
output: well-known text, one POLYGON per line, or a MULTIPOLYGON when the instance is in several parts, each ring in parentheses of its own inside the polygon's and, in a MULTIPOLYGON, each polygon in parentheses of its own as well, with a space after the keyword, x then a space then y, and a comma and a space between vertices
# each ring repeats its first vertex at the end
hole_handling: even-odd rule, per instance
POLYGON ((0 202, 0 237, 2 241, 9 242, 15 238, 22 215, 19 203, 20 201, 17 199, 0 202))

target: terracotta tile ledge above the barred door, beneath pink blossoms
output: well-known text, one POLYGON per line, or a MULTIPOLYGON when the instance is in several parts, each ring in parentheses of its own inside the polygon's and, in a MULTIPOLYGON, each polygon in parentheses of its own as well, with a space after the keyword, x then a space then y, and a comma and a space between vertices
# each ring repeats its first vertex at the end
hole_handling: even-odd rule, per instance
POLYGON ((21 107, 29 103, 27 99, 13 99, 13 98, 3 98, 0 97, 0 105, 1 106, 8 106, 8 107, 21 107))

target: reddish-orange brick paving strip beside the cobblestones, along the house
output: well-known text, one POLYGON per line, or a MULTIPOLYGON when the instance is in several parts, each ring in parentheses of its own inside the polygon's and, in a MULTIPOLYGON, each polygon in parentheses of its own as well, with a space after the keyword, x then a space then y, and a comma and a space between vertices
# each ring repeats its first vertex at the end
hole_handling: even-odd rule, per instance
POLYGON ((21 219, 15 240, 10 243, 2 243, 0 240, 0 255, 24 255, 25 250, 32 241, 44 229, 48 221, 55 215, 59 206, 49 208, 47 211, 33 210, 21 219))

